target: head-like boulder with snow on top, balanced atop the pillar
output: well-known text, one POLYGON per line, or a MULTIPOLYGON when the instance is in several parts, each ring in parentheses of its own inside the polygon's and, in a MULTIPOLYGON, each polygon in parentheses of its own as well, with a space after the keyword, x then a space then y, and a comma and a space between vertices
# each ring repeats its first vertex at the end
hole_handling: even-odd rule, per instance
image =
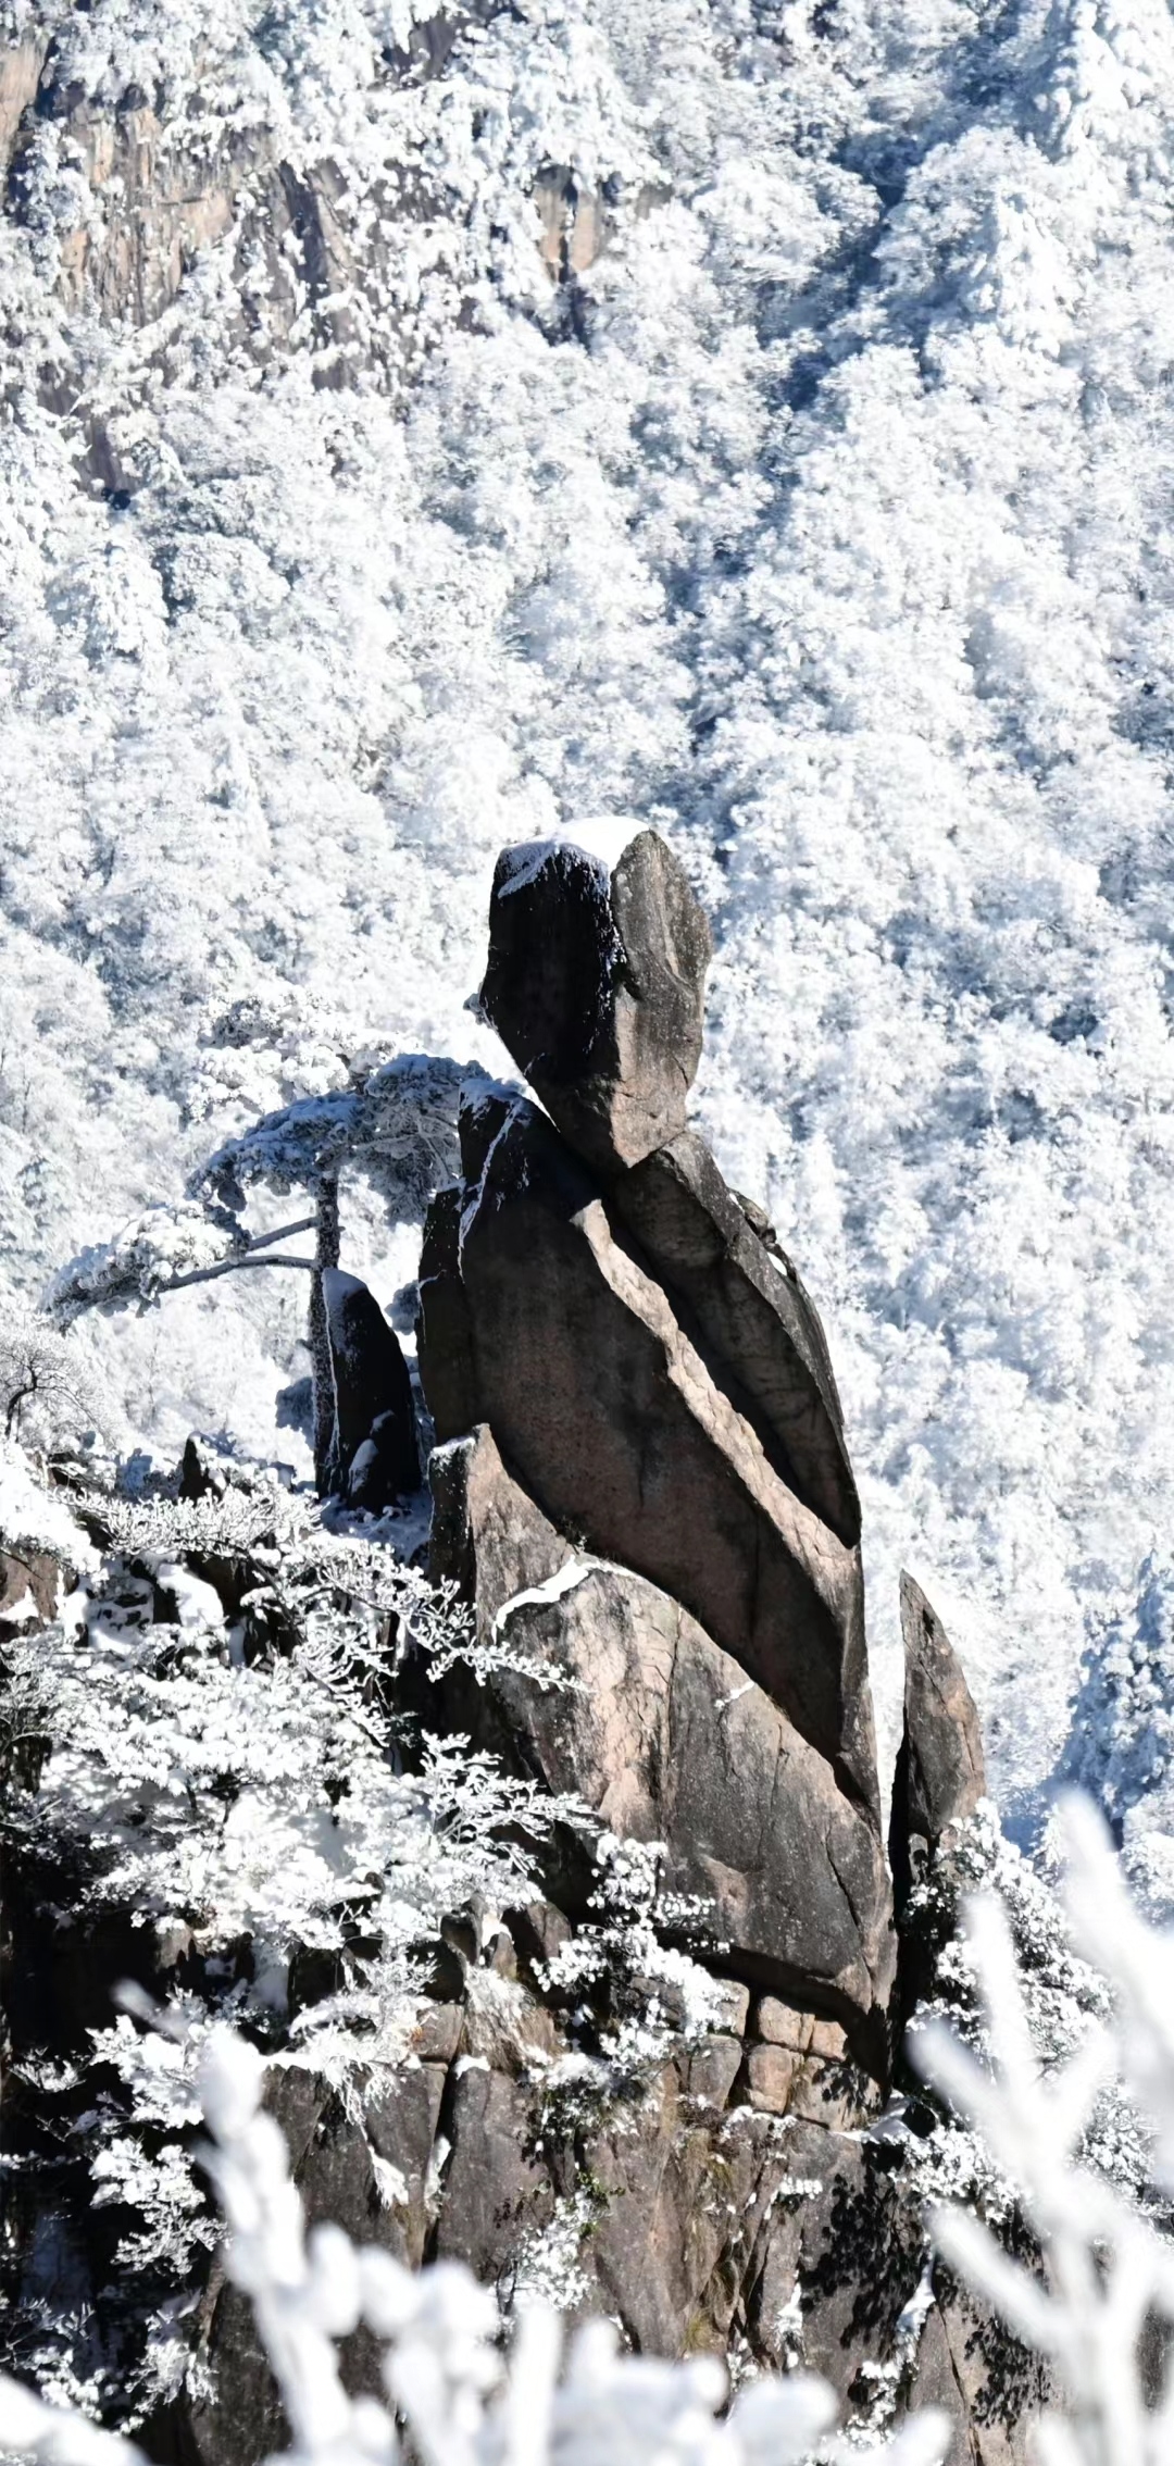
POLYGON ((705 912, 656 831, 614 868, 565 841, 498 858, 481 1009, 597 1171, 683 1132, 710 952, 705 912))

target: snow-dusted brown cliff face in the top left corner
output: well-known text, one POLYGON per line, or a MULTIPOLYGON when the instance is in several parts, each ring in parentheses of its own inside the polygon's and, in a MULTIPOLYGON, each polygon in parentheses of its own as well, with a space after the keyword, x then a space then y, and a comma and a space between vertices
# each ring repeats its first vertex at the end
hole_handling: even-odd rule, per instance
MULTIPOLYGON (((195 12, 150 30, 148 17, 91 20, 44 0, 7 42, 0 27, 5 210, 39 242, 69 313, 160 326, 222 244, 229 355, 264 370, 298 350, 316 387, 395 390, 422 340, 429 254, 459 279, 454 197, 427 168, 434 113, 422 96, 456 39, 496 15, 501 0, 390 10, 380 35, 377 12, 353 12, 318 59, 313 22, 296 12, 195 12)), ((530 165, 523 200, 535 274, 550 289, 582 274, 604 247, 607 202, 552 163, 530 165)), ((456 207, 456 229, 461 219, 456 207)))

